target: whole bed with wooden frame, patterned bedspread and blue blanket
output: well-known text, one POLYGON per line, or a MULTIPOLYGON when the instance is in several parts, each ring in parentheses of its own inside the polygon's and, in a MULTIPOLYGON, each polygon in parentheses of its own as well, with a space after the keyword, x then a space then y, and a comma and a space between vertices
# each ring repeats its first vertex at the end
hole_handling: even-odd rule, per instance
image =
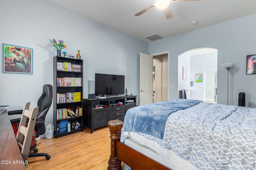
POLYGON ((256 169, 256 109, 177 99, 113 120, 108 170, 256 169))

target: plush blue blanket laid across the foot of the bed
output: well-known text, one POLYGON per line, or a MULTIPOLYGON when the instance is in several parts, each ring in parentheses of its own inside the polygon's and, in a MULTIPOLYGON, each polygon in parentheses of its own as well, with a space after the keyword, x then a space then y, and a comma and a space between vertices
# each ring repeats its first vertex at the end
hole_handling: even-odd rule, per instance
POLYGON ((123 131, 146 133, 160 139, 164 135, 165 122, 170 114, 186 109, 202 101, 177 99, 132 107, 124 117, 123 131))

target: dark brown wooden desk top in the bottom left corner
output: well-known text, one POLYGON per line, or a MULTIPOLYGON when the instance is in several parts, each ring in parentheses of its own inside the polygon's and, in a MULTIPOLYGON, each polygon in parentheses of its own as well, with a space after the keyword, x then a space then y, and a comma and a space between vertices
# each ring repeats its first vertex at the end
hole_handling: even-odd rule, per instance
POLYGON ((26 170, 8 113, 0 113, 0 169, 26 170))

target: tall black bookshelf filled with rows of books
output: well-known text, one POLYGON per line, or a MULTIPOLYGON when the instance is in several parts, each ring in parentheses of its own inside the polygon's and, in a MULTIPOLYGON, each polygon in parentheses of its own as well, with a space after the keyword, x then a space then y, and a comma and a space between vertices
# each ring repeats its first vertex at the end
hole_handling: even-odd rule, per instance
POLYGON ((82 98, 83 60, 55 56, 53 58, 53 124, 56 138, 83 131, 82 98))

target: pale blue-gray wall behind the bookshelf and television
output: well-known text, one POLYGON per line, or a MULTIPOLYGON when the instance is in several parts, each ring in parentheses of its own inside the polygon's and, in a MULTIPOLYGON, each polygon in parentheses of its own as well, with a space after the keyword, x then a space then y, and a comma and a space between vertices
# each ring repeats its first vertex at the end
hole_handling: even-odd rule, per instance
MULTIPOLYGON (((70 12, 47 0, 6 0, 0 2, 0 43, 34 50, 34 72, 2 73, 0 64, 0 105, 22 109, 25 102, 37 105, 43 84, 53 84, 53 57, 56 49, 49 39, 64 40, 68 54, 81 50, 84 60, 84 98, 88 81, 95 73, 125 75, 128 93, 138 95, 139 53, 148 53, 148 43, 70 12)), ((2 54, 2 47, 0 48, 2 54)), ((2 60, 1 60, 2 61, 2 60)), ((46 125, 52 123, 52 107, 46 125)))

